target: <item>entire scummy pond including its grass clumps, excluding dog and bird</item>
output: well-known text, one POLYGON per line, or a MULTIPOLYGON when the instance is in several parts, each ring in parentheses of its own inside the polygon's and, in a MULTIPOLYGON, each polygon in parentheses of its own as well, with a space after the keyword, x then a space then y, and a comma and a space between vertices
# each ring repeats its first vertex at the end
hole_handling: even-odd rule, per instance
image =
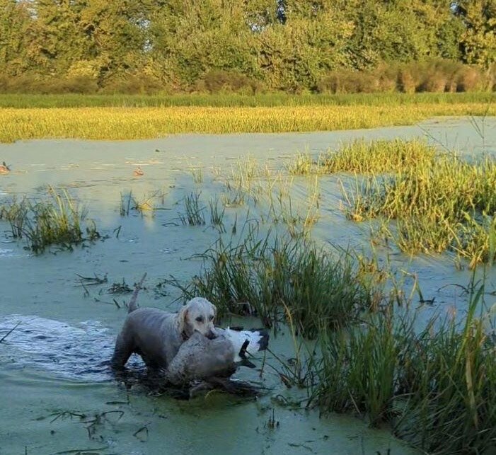
POLYGON ((492 117, 0 144, 0 454, 491 454, 495 144, 492 117), (270 328, 258 398, 110 374, 144 272, 142 306, 270 328))

